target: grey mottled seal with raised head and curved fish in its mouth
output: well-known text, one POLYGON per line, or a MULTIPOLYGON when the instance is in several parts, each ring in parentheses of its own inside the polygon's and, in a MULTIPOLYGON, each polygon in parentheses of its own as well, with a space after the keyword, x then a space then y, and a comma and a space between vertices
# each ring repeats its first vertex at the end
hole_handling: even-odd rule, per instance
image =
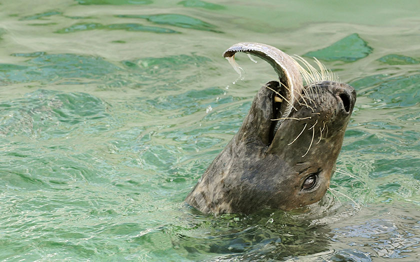
POLYGON ((239 73, 236 52, 267 61, 279 81, 259 89, 238 132, 186 203, 217 215, 289 211, 319 201, 335 170, 356 100, 354 88, 340 83, 316 59, 319 69, 259 43, 238 43, 223 53, 239 73))

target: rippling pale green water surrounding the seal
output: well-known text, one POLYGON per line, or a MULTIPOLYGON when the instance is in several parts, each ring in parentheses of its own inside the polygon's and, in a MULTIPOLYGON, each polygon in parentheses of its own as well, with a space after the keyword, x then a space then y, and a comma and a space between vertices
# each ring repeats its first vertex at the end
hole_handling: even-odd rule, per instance
POLYGON ((419 13, 408 0, 0 0, 0 260, 420 260, 419 13), (237 55, 237 80, 221 53, 240 41, 316 56, 357 90, 335 197, 249 216, 183 203, 276 79, 237 55))

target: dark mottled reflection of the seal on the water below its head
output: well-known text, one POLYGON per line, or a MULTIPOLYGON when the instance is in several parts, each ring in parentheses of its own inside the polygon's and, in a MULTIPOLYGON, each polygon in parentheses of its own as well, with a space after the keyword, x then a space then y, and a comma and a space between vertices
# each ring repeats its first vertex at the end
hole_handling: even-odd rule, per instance
POLYGON ((339 206, 327 194, 320 202, 291 212, 265 209, 213 217, 191 209, 191 228, 173 229, 172 245, 191 260, 219 254, 220 261, 269 261, 326 252, 333 234, 319 221, 342 215, 345 207, 339 206))

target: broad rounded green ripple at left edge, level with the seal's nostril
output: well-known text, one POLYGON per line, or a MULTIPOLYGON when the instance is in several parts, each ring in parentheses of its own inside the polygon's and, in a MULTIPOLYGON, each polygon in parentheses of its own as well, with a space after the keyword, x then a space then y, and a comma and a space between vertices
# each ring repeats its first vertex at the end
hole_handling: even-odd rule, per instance
POLYGON ((94 133, 109 129, 107 105, 86 93, 37 90, 24 98, 3 102, 0 134, 13 136, 65 137, 83 129, 94 133), (90 127, 85 123, 89 122, 90 127))

